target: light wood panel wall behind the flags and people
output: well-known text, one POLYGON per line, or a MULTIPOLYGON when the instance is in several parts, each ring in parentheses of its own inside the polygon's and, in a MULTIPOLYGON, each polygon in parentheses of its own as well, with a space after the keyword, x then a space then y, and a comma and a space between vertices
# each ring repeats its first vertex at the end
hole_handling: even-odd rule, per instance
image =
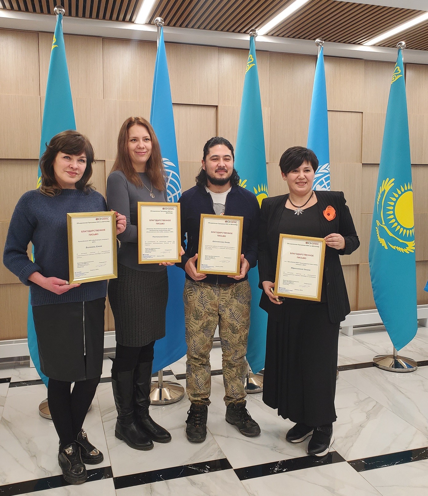
MULTIPOLYGON (((105 194, 117 133, 130 115, 150 116, 156 44, 65 36, 79 131, 97 156, 105 194)), ((22 193, 35 187, 52 34, 0 30, 0 248, 22 193)), ((247 50, 167 44, 183 189, 194 185, 207 139, 236 140, 247 50)), ((286 192, 278 161, 306 145, 316 58, 258 52, 268 186, 286 192)), ((361 247, 342 257, 352 310, 374 308, 369 236, 393 63, 325 57, 331 184, 345 193, 361 247)), ((415 199, 418 303, 428 303, 428 66, 406 65, 415 199)), ((58 102, 60 105, 60 102, 58 102)), ((239 172, 239 171, 238 171, 239 172)), ((26 337, 28 288, 0 265, 0 340, 26 337)), ((114 329, 107 309, 106 329, 114 329)))

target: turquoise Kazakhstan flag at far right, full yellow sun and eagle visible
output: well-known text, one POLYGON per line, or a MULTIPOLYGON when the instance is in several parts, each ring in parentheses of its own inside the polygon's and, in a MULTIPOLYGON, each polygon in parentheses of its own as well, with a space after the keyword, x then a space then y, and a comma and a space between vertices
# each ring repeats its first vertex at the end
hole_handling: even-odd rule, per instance
POLYGON ((403 54, 398 51, 383 131, 369 248, 380 318, 397 350, 418 329, 412 168, 403 54))

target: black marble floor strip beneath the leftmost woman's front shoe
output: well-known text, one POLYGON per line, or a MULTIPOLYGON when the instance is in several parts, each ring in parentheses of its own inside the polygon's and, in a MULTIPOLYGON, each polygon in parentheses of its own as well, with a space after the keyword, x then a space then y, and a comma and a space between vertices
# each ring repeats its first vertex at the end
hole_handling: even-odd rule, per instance
MULTIPOLYGON (((111 467, 101 467, 88 470, 88 482, 101 481, 102 479, 111 479, 113 473, 111 467)), ((26 493, 34 493, 37 491, 44 491, 46 489, 62 488, 69 486, 65 482, 62 475, 54 475, 52 477, 45 477, 43 479, 35 479, 34 481, 17 482, 15 484, 5 484, 0 486, 1 496, 16 496, 26 493)))

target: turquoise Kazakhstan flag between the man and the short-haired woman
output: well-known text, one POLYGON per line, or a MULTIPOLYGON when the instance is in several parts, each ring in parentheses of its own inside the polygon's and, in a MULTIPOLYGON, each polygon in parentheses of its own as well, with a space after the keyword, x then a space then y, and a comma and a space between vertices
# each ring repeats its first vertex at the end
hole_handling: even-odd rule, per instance
MULTIPOLYGON (((240 186, 252 191, 261 204, 263 198, 268 196, 268 173, 256 44, 253 36, 250 38, 250 54, 242 92, 241 113, 236 138, 235 169, 241 178, 240 186)), ((248 272, 248 280, 251 285, 252 304, 247 360, 251 370, 257 373, 265 367, 268 317, 258 305, 262 290, 259 289, 259 273, 256 267, 248 272)))

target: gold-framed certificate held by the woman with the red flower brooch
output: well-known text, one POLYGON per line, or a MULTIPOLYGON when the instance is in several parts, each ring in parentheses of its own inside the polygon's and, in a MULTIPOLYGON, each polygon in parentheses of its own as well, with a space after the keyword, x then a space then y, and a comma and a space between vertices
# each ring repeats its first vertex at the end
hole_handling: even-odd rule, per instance
POLYGON ((280 234, 274 294, 321 301, 324 253, 322 238, 280 234))

